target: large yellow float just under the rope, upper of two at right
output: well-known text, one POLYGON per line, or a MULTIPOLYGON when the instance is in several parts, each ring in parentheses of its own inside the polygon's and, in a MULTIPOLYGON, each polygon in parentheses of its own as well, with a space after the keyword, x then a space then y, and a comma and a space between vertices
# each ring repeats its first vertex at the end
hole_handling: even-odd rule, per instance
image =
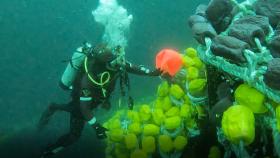
POLYGON ((254 113, 259 114, 267 111, 267 108, 264 106, 265 96, 247 84, 238 86, 234 97, 238 104, 247 106, 254 113))

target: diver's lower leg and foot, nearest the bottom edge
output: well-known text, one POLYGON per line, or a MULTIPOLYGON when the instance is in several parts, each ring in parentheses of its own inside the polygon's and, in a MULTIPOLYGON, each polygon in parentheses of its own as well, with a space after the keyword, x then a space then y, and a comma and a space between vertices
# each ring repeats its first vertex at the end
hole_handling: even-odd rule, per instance
POLYGON ((82 118, 71 114, 70 132, 61 136, 55 144, 47 147, 46 151, 43 153, 42 158, 52 156, 58 153, 59 151, 63 150, 65 147, 76 142, 80 138, 84 126, 85 121, 82 118))

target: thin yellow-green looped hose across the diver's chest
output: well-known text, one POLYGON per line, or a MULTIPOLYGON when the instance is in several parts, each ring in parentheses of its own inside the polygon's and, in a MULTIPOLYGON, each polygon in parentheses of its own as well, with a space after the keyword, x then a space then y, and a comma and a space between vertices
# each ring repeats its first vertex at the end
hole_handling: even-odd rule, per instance
POLYGON ((85 58, 85 62, 84 62, 84 67, 85 67, 85 71, 86 71, 86 74, 89 78, 89 80, 95 84, 95 85, 98 85, 98 86, 101 86, 102 88, 102 93, 103 93, 103 96, 106 97, 106 89, 103 88, 103 86, 105 84, 107 84, 109 81, 110 81, 110 73, 108 71, 105 71, 101 74, 101 77, 100 77, 100 82, 94 80, 94 78, 90 75, 89 71, 88 71, 88 67, 87 67, 87 62, 88 62, 88 57, 85 58))

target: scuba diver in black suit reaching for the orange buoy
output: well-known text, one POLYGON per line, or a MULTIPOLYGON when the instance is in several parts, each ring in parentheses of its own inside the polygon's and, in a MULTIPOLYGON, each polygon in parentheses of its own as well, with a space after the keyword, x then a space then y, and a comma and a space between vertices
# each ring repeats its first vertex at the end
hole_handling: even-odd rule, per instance
MULTIPOLYGON (((128 73, 160 76, 158 69, 150 71, 143 66, 135 66, 124 58, 123 48, 110 49, 106 44, 92 47, 85 43, 72 56, 60 81, 60 87, 71 90, 72 100, 67 104, 51 103, 43 112, 38 129, 42 129, 56 111, 70 113, 70 132, 61 136, 56 143, 48 146, 42 158, 55 155, 66 146, 79 139, 86 123, 96 131, 97 138, 106 138, 107 129, 97 123, 92 110, 98 106, 110 108, 110 95, 120 79, 120 89, 124 96, 129 91, 128 73)), ((133 108, 133 99, 128 97, 128 106, 133 108)))

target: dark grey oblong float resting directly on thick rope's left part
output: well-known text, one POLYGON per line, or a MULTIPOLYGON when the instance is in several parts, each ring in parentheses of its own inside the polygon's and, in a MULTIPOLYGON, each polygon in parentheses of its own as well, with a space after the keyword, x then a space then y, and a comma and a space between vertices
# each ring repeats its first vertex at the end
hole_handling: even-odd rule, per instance
POLYGON ((211 51, 214 55, 229 59, 230 62, 238 64, 245 63, 243 50, 249 48, 249 45, 237 38, 219 35, 213 40, 211 51))

